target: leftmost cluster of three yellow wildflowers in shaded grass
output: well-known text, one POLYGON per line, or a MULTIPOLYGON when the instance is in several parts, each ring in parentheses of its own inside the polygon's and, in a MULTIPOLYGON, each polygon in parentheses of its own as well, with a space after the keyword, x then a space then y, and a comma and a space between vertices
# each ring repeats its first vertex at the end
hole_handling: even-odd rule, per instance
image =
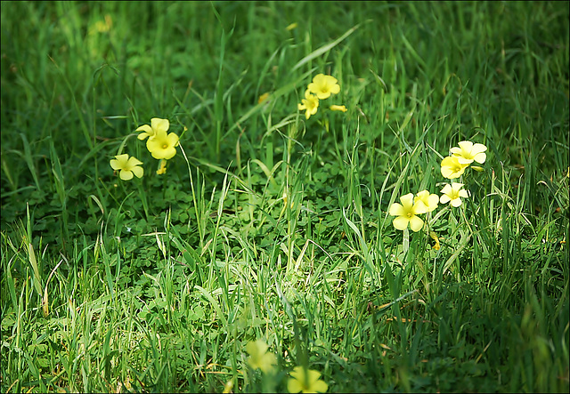
MULTIPOLYGON (((175 157, 176 147, 179 144, 178 135, 176 133, 167 133, 170 123, 168 119, 153 117, 151 125, 142 125, 135 132, 142 132, 138 135, 139 140, 146 141, 146 148, 151 152, 152 157, 160 160, 158 174, 167 172, 167 160, 175 157)), ((144 173, 142 162, 135 157, 129 157, 127 154, 117 155, 110 160, 110 166, 113 170, 119 172, 119 178, 123 181, 133 179, 133 175, 141 178, 144 173)))

